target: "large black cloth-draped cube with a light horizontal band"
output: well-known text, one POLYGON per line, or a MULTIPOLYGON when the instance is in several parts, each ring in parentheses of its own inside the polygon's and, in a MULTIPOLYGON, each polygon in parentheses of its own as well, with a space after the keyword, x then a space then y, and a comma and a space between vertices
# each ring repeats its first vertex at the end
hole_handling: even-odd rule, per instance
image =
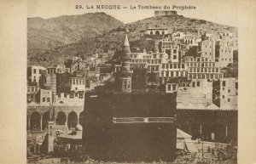
POLYGON ((83 143, 101 161, 172 161, 176 93, 88 92, 83 143))

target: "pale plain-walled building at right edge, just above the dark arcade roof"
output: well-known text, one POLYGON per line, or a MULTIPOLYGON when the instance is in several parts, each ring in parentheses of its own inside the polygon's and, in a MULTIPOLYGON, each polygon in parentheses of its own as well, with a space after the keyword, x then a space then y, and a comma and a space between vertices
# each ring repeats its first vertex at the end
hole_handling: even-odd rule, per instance
POLYGON ((220 79, 220 108, 237 109, 238 80, 237 78, 220 79))

